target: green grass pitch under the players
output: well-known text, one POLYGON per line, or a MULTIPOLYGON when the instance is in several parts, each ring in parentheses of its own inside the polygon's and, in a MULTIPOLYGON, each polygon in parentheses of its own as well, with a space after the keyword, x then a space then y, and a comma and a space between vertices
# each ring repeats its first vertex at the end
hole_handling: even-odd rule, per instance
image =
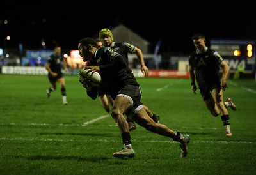
POLYGON ((137 125, 131 132, 135 158, 118 159, 122 148, 115 121, 92 100, 77 76, 66 76, 67 100, 60 86, 47 99, 47 76, 0 75, 0 174, 255 174, 256 82, 228 80, 224 98, 232 137, 225 136, 188 79, 138 78, 142 102, 172 130, 191 135, 189 153, 180 158, 172 139, 137 125), (108 115, 108 116, 106 116, 108 115), (89 123, 93 119, 99 121, 89 123))

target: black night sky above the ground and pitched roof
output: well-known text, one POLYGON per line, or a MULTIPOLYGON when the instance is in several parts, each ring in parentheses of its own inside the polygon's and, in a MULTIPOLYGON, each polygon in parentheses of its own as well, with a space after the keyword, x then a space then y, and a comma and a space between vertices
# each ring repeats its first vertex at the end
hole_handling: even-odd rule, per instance
POLYGON ((111 29, 118 24, 124 24, 150 42, 153 51, 154 45, 161 40, 159 52, 191 52, 191 36, 195 33, 204 33, 208 40, 256 39, 256 15, 250 1, 236 4, 153 1, 141 5, 134 1, 103 2, 2 1, 1 40, 10 35, 6 47, 22 43, 24 49, 40 49, 44 40, 49 48, 59 43, 63 49, 71 50, 77 49, 81 38, 94 36, 100 29, 111 29), (8 24, 4 24, 4 20, 8 20, 8 24))

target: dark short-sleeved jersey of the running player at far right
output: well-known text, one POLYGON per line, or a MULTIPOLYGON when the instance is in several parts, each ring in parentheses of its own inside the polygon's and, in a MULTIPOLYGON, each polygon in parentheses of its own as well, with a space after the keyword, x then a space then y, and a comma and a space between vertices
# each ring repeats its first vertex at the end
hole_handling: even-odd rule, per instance
POLYGON ((223 58, 215 50, 206 47, 203 54, 194 50, 189 56, 189 66, 195 70, 198 86, 220 82, 219 64, 223 58))

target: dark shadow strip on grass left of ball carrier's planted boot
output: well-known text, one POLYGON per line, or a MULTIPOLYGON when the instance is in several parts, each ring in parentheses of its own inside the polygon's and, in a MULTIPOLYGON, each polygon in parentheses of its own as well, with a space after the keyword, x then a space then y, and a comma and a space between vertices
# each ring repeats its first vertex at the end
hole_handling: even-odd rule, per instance
POLYGON ((28 160, 77 160, 86 162, 99 162, 100 160, 109 160, 110 157, 81 157, 81 156, 29 156, 28 160))

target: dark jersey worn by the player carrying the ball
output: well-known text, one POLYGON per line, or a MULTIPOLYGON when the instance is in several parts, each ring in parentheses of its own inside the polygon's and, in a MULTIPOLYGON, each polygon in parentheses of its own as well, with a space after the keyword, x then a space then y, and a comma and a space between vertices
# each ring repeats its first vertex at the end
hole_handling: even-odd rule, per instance
MULTIPOLYGON (((131 73, 131 69, 127 67, 125 59, 111 47, 103 47, 96 50, 88 65, 100 66, 100 75, 102 77, 100 88, 104 89, 113 99, 115 99, 118 91, 127 84, 140 86, 131 73)), ((93 99, 97 98, 95 91, 97 91, 97 88, 93 88, 92 91, 88 92, 88 96, 93 99)))

